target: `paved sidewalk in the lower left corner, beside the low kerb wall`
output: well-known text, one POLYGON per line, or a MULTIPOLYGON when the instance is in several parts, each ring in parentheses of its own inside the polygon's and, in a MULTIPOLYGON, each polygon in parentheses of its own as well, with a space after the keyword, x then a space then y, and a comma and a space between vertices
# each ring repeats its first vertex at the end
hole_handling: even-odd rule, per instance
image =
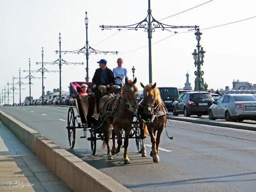
POLYGON ((9 191, 72 190, 0 122, 0 192, 9 191))

